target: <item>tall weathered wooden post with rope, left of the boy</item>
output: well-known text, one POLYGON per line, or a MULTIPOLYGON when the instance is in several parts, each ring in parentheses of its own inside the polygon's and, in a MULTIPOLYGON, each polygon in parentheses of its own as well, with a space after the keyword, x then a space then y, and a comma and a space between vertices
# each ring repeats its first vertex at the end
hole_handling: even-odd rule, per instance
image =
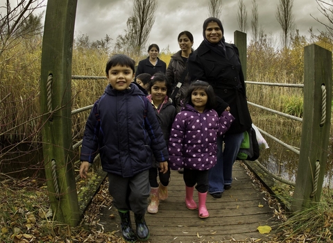
POLYGON ((71 139, 71 59, 77 0, 47 1, 40 112, 46 183, 57 221, 76 226, 80 219, 71 139))

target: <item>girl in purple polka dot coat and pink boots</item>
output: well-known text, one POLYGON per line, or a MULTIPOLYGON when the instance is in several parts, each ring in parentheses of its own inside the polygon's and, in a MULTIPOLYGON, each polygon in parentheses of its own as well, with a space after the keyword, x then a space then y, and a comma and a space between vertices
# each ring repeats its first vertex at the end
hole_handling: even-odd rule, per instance
POLYGON ((191 84, 176 115, 169 139, 169 167, 184 168, 186 185, 185 204, 190 210, 197 208, 193 199, 194 186, 198 190, 198 216, 207 218, 208 171, 216 164, 217 136, 223 135, 234 120, 228 108, 221 117, 212 108, 215 94, 204 81, 191 84))

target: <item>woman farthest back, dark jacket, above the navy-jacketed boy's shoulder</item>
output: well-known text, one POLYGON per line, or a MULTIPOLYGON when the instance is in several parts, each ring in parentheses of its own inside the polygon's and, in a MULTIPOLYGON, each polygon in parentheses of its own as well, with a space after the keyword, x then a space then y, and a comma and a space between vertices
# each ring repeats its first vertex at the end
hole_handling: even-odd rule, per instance
POLYGON ((157 44, 151 44, 148 47, 148 58, 139 61, 137 65, 137 71, 135 72, 135 78, 139 74, 147 73, 153 76, 157 72, 162 72, 165 74, 167 72, 167 64, 158 58, 158 53, 160 53, 160 47, 157 44))

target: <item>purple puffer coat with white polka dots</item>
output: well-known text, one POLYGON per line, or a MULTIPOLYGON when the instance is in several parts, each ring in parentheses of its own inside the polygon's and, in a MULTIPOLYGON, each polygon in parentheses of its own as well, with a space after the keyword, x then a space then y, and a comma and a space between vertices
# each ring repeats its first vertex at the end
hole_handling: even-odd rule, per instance
POLYGON ((217 136, 228 131, 233 119, 230 112, 218 117, 215 110, 198 113, 191 106, 179 112, 169 139, 171 169, 212 168, 216 164, 217 136))

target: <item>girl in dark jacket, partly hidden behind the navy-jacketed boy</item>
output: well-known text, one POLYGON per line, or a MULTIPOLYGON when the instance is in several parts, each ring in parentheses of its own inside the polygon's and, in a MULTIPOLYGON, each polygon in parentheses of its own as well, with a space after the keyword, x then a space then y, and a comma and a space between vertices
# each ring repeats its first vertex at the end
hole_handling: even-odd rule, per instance
MULTIPOLYGON (((141 74, 140 74, 141 75, 141 74)), ((162 72, 157 72, 151 77, 147 88, 149 95, 148 100, 151 101, 155 114, 166 143, 169 141, 171 125, 176 116, 176 108, 169 101, 168 95, 171 93, 171 83, 167 81, 166 76, 162 72)), ((157 213, 160 200, 163 201, 168 197, 168 185, 170 181, 170 171, 167 173, 158 172, 158 164, 153 162, 153 167, 149 169, 149 183, 151 184, 151 203, 148 206, 148 212, 157 213), (157 173, 160 183, 157 183, 157 173)))

